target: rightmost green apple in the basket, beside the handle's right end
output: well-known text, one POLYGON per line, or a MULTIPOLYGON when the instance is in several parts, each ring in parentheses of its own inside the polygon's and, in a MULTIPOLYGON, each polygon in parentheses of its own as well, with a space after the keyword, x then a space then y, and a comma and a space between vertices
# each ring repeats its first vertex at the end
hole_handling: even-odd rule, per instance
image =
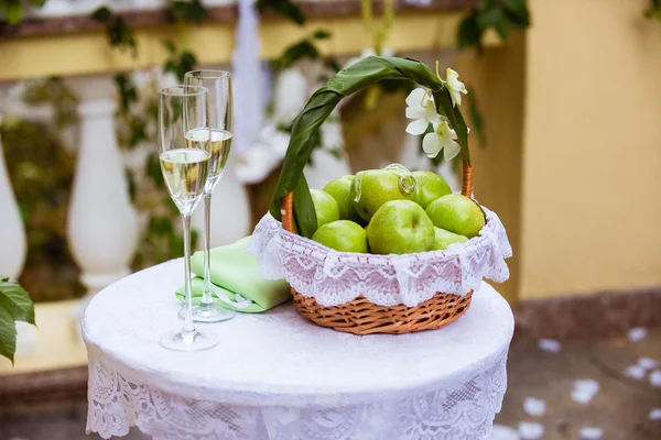
POLYGON ((485 216, 477 202, 458 194, 432 201, 426 213, 436 228, 468 239, 476 237, 485 226, 485 216))

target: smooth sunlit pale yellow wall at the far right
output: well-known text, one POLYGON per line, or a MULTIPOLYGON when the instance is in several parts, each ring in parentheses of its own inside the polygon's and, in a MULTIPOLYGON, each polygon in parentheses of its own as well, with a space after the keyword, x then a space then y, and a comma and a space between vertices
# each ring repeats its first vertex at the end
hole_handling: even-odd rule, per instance
POLYGON ((661 285, 661 23, 530 0, 520 298, 661 285))

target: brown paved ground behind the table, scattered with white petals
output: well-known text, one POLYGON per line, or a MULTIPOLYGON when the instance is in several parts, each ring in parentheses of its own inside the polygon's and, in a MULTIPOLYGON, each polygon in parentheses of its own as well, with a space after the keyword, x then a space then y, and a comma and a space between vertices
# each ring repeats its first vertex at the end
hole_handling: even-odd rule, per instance
MULTIPOLYGON (((624 374, 641 356, 661 361, 661 329, 636 343, 627 338, 596 343, 564 342, 557 353, 540 350, 537 342, 514 341, 509 358, 508 393, 496 421, 514 429, 522 421, 539 422, 544 428, 540 438, 545 440, 581 439, 579 431, 585 427, 603 429, 602 439, 607 440, 660 440, 661 420, 650 420, 649 414, 661 408, 661 386, 653 386, 650 381, 655 370, 661 376, 661 366, 649 370, 642 380, 624 374), (576 380, 598 383, 599 389, 590 402, 579 404, 572 399, 576 380), (528 397, 545 402, 543 416, 525 414, 523 402, 528 397)), ((96 438, 85 435, 85 416, 84 402, 0 415, 0 440, 96 438)), ((142 440, 144 436, 133 432, 124 439, 142 440)))

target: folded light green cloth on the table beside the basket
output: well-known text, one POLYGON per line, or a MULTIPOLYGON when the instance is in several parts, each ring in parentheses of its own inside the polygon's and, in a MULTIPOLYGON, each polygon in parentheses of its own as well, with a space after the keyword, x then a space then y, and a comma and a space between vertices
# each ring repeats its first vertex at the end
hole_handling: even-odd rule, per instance
MULTIPOLYGON (((250 237, 234 244, 213 249, 212 292, 214 301, 227 309, 259 314, 286 301, 292 297, 284 279, 264 279, 259 274, 254 255, 246 251, 250 237)), ((204 253, 196 252, 191 258, 193 301, 199 302, 204 289, 204 253)), ((185 299, 184 286, 176 297, 185 299)))

